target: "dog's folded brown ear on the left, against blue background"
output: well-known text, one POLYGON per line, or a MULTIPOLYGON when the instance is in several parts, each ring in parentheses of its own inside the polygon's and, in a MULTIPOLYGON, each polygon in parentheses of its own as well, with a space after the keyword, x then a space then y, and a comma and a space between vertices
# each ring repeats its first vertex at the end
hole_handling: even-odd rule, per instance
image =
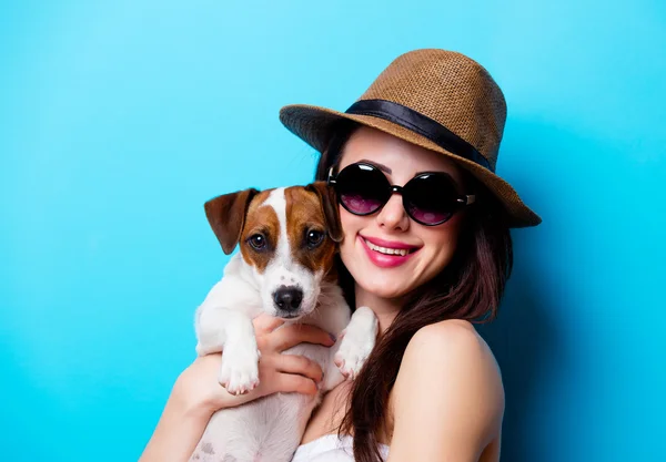
POLYGON ((241 239, 245 214, 256 193, 259 191, 254 188, 239 191, 218 196, 203 205, 205 216, 218 236, 224 254, 231 254, 241 239))

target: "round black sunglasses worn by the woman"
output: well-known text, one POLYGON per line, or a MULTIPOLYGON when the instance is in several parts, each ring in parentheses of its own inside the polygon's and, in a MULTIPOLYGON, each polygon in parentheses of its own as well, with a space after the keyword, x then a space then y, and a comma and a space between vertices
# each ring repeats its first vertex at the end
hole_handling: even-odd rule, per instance
POLYGON ((335 188, 340 204, 354 215, 372 215, 398 193, 410 218, 425 226, 446 223, 476 198, 458 194, 451 176, 443 172, 420 173, 404 186, 396 186, 380 168, 363 162, 347 165, 337 175, 331 167, 327 182, 335 188))

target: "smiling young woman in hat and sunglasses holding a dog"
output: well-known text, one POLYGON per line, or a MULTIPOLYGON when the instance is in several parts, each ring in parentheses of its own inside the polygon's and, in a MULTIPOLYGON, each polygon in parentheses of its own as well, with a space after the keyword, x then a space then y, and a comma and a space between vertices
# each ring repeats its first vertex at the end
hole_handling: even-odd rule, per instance
MULTIPOLYGON (((472 322, 496 314, 509 227, 541 222, 494 173, 505 116, 491 75, 444 50, 398 57, 344 113, 282 109, 285 126, 322 152, 317 179, 337 192, 345 295, 380 320, 365 367, 324 397, 294 461, 498 461, 502 379, 472 322)), ((332 339, 279 324, 255 322, 262 377, 251 393, 216 383, 220 355, 179 377, 143 461, 188 460, 218 409, 315 392, 316 365, 280 352, 332 339)))

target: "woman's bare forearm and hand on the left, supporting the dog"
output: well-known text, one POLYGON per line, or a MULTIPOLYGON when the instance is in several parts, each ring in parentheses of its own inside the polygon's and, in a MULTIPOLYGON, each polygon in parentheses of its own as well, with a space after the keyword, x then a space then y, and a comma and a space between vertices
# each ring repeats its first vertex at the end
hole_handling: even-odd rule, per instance
POLYGON ((331 336, 313 326, 291 325, 275 330, 282 320, 268 316, 254 322, 261 351, 260 384, 249 393, 233 396, 218 383, 222 355, 196 358, 178 378, 162 417, 145 446, 140 462, 182 462, 189 460, 211 415, 275 392, 314 394, 322 370, 302 356, 282 351, 302 343, 331 347, 331 336))

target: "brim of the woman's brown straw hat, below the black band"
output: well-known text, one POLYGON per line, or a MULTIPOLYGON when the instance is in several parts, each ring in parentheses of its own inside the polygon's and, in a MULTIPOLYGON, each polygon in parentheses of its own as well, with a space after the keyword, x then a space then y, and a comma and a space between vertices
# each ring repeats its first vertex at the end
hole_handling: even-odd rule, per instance
POLYGON ((500 199, 505 207, 511 227, 536 226, 542 222, 541 217, 523 203, 515 189, 500 176, 475 162, 446 151, 425 136, 393 122, 372 115, 346 114, 307 104, 290 104, 280 110, 280 121, 284 126, 320 153, 326 148, 335 129, 335 123, 343 119, 381 130, 417 146, 451 157, 483 183, 500 199))

